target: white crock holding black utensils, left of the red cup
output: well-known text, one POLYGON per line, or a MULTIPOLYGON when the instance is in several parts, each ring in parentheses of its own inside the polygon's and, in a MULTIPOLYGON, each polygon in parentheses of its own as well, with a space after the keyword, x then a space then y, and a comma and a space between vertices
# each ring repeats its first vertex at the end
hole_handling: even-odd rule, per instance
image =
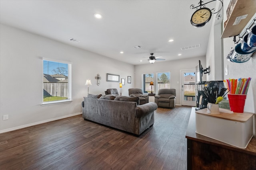
POLYGON ((225 96, 228 93, 226 92, 226 90, 227 88, 206 86, 203 88, 203 90, 198 91, 208 102, 207 113, 220 114, 218 103, 222 101, 223 96, 225 96))

